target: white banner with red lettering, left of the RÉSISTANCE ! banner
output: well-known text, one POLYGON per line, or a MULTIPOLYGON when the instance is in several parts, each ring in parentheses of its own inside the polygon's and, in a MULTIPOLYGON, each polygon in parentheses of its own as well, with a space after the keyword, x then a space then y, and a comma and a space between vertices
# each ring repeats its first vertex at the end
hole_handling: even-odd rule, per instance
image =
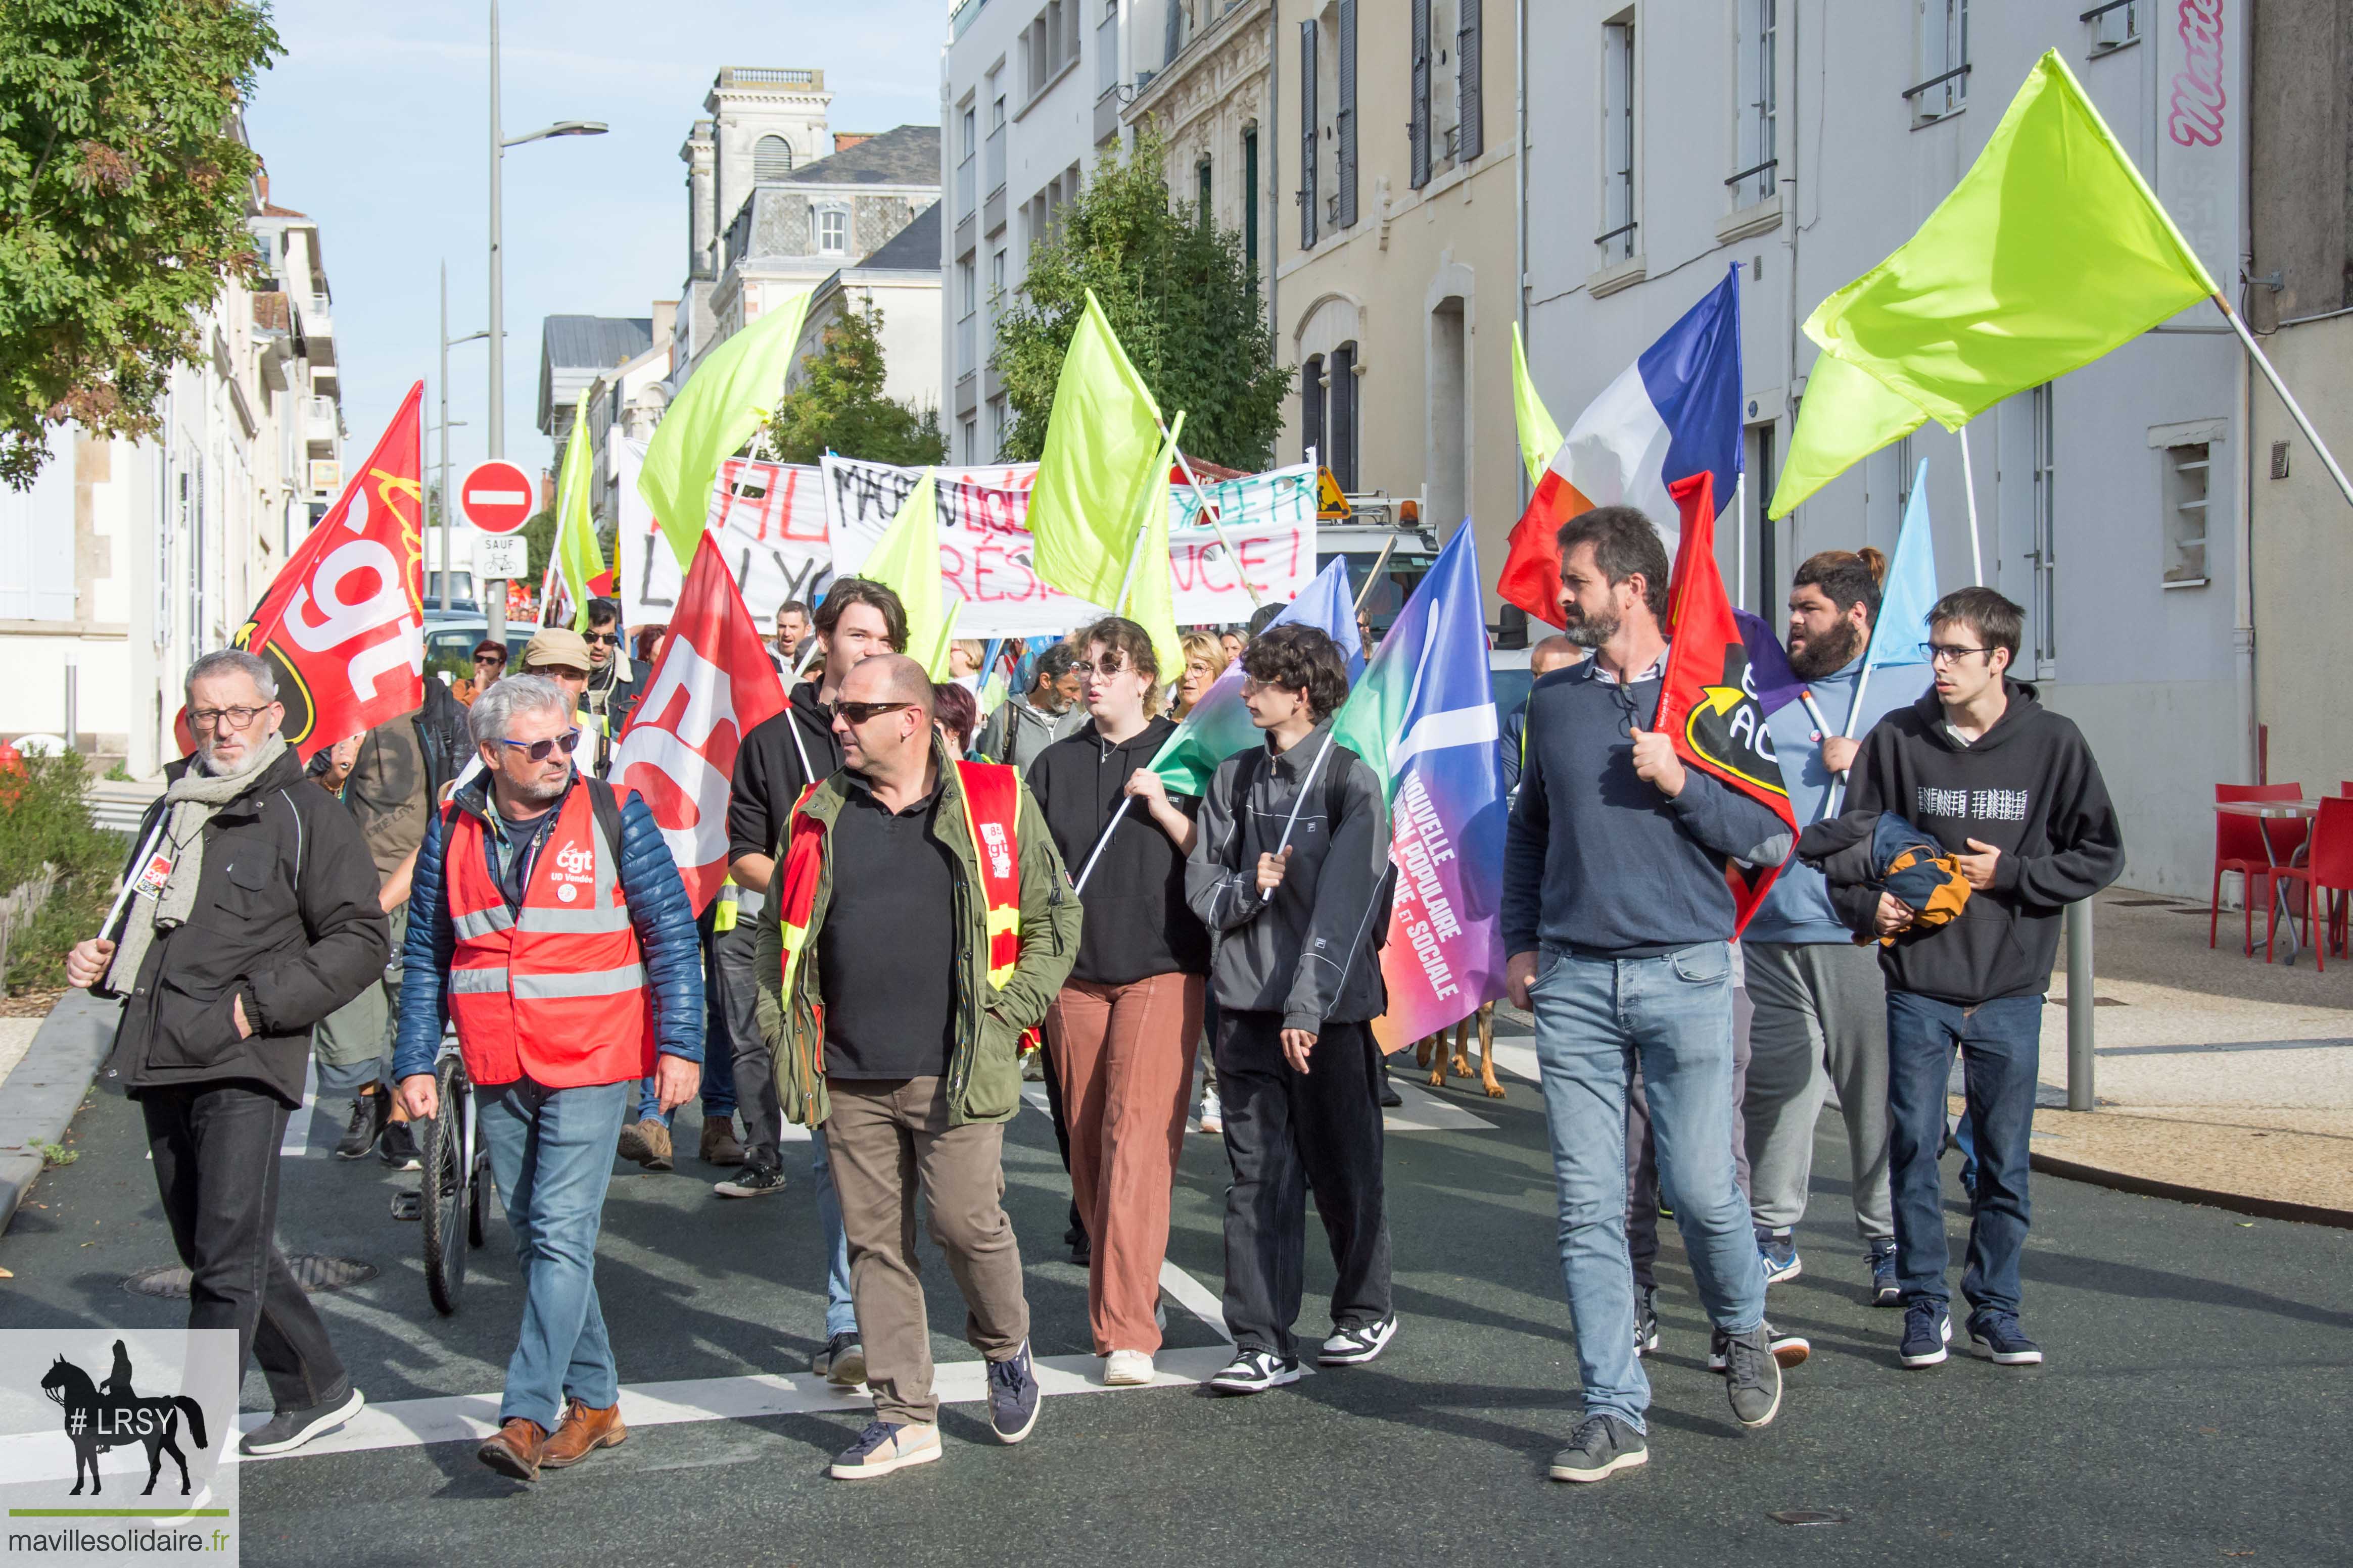
MULTIPOLYGON (((656 625, 678 609, 678 555, 638 494, 645 442, 612 437, 621 491, 619 571, 624 625, 656 625)), ((744 607, 769 625, 786 599, 816 604, 833 581, 826 503, 816 468, 729 458, 711 489, 711 534, 744 592, 744 607)))

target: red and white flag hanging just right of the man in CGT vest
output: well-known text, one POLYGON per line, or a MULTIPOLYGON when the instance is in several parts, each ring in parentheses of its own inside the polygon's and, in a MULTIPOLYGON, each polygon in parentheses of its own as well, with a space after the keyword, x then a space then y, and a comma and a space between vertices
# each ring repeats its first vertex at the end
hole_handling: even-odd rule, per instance
POLYGON ((645 797, 701 914, 727 882, 727 785, 744 736, 784 712, 784 682, 711 534, 678 588, 671 635, 621 731, 612 783, 645 797))

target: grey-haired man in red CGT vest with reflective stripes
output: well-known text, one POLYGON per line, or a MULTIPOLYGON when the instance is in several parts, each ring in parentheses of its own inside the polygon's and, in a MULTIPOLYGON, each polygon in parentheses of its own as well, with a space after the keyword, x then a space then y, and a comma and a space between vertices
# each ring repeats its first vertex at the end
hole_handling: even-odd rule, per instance
POLYGON ((508 677, 471 724, 482 776, 416 853, 393 1077, 407 1112, 433 1119, 442 1020, 456 1023, 522 1262, 522 1338, 480 1458, 536 1481, 628 1436, 595 1239, 638 1081, 652 1074, 664 1107, 696 1093, 704 954, 654 813, 574 771, 562 686, 508 677))

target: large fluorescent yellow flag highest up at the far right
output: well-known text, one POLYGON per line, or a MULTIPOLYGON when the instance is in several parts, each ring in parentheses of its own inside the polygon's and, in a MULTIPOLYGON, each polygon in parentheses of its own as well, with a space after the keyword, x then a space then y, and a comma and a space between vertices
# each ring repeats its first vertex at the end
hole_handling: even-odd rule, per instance
POLYGON ((1821 301, 1805 334, 1958 430, 2209 294, 2214 280, 2054 49, 1953 195, 1821 301))

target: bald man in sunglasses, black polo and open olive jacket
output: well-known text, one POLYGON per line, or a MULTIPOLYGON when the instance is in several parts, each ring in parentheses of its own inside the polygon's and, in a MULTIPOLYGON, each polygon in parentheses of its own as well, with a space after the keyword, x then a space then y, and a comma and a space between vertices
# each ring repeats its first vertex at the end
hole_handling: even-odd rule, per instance
POLYGON ((918 1192, 988 1361, 991 1425, 1019 1443, 1038 1420, 1002 1150, 1021 1041, 1078 957, 1078 896, 1021 778, 936 741, 913 658, 849 670, 833 733, 842 771, 793 806, 758 973, 776 1095, 826 1128, 849 1234, 875 1420, 833 1460, 847 1481, 941 1455, 918 1192))

